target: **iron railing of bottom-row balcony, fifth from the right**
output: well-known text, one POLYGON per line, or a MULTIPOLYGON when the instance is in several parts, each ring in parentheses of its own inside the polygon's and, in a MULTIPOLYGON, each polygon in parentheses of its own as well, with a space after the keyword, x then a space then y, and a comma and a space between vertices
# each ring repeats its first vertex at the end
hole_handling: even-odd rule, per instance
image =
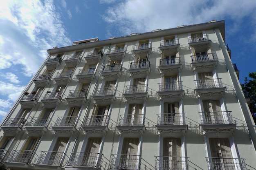
POLYGON ((41 151, 41 155, 37 161, 37 164, 47 164, 62 167, 63 162, 67 161, 66 157, 67 155, 64 152, 41 151))

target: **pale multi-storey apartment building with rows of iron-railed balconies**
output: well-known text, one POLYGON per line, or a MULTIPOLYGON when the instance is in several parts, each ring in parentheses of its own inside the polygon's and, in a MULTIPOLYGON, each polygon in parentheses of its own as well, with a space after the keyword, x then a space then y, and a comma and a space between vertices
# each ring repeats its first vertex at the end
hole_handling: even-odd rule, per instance
POLYGON ((47 52, 2 121, 2 167, 256 167, 255 124, 224 21, 92 38, 47 52))

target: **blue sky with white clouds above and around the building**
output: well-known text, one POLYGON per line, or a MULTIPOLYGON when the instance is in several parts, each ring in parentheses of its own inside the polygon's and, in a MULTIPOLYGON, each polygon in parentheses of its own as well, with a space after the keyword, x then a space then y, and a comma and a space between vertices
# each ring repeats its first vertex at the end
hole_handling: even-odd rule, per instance
POLYGON ((256 71, 256 0, 2 0, 0 120, 53 46, 225 20, 240 82, 256 71))

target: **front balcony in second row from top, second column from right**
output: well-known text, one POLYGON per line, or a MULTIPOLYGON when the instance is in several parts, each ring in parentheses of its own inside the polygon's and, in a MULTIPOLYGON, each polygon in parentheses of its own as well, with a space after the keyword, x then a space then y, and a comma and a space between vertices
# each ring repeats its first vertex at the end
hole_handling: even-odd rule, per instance
POLYGON ((178 73, 182 70, 180 57, 160 59, 158 69, 161 73, 165 75, 168 75, 171 72, 178 73))

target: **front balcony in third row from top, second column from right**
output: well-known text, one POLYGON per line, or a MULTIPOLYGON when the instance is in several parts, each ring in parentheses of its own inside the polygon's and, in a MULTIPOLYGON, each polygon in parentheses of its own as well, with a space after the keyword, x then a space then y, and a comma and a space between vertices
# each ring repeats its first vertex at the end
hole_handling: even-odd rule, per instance
POLYGON ((169 83, 158 83, 158 91, 160 99, 164 98, 178 98, 184 96, 184 90, 182 88, 182 82, 169 82, 169 83))

